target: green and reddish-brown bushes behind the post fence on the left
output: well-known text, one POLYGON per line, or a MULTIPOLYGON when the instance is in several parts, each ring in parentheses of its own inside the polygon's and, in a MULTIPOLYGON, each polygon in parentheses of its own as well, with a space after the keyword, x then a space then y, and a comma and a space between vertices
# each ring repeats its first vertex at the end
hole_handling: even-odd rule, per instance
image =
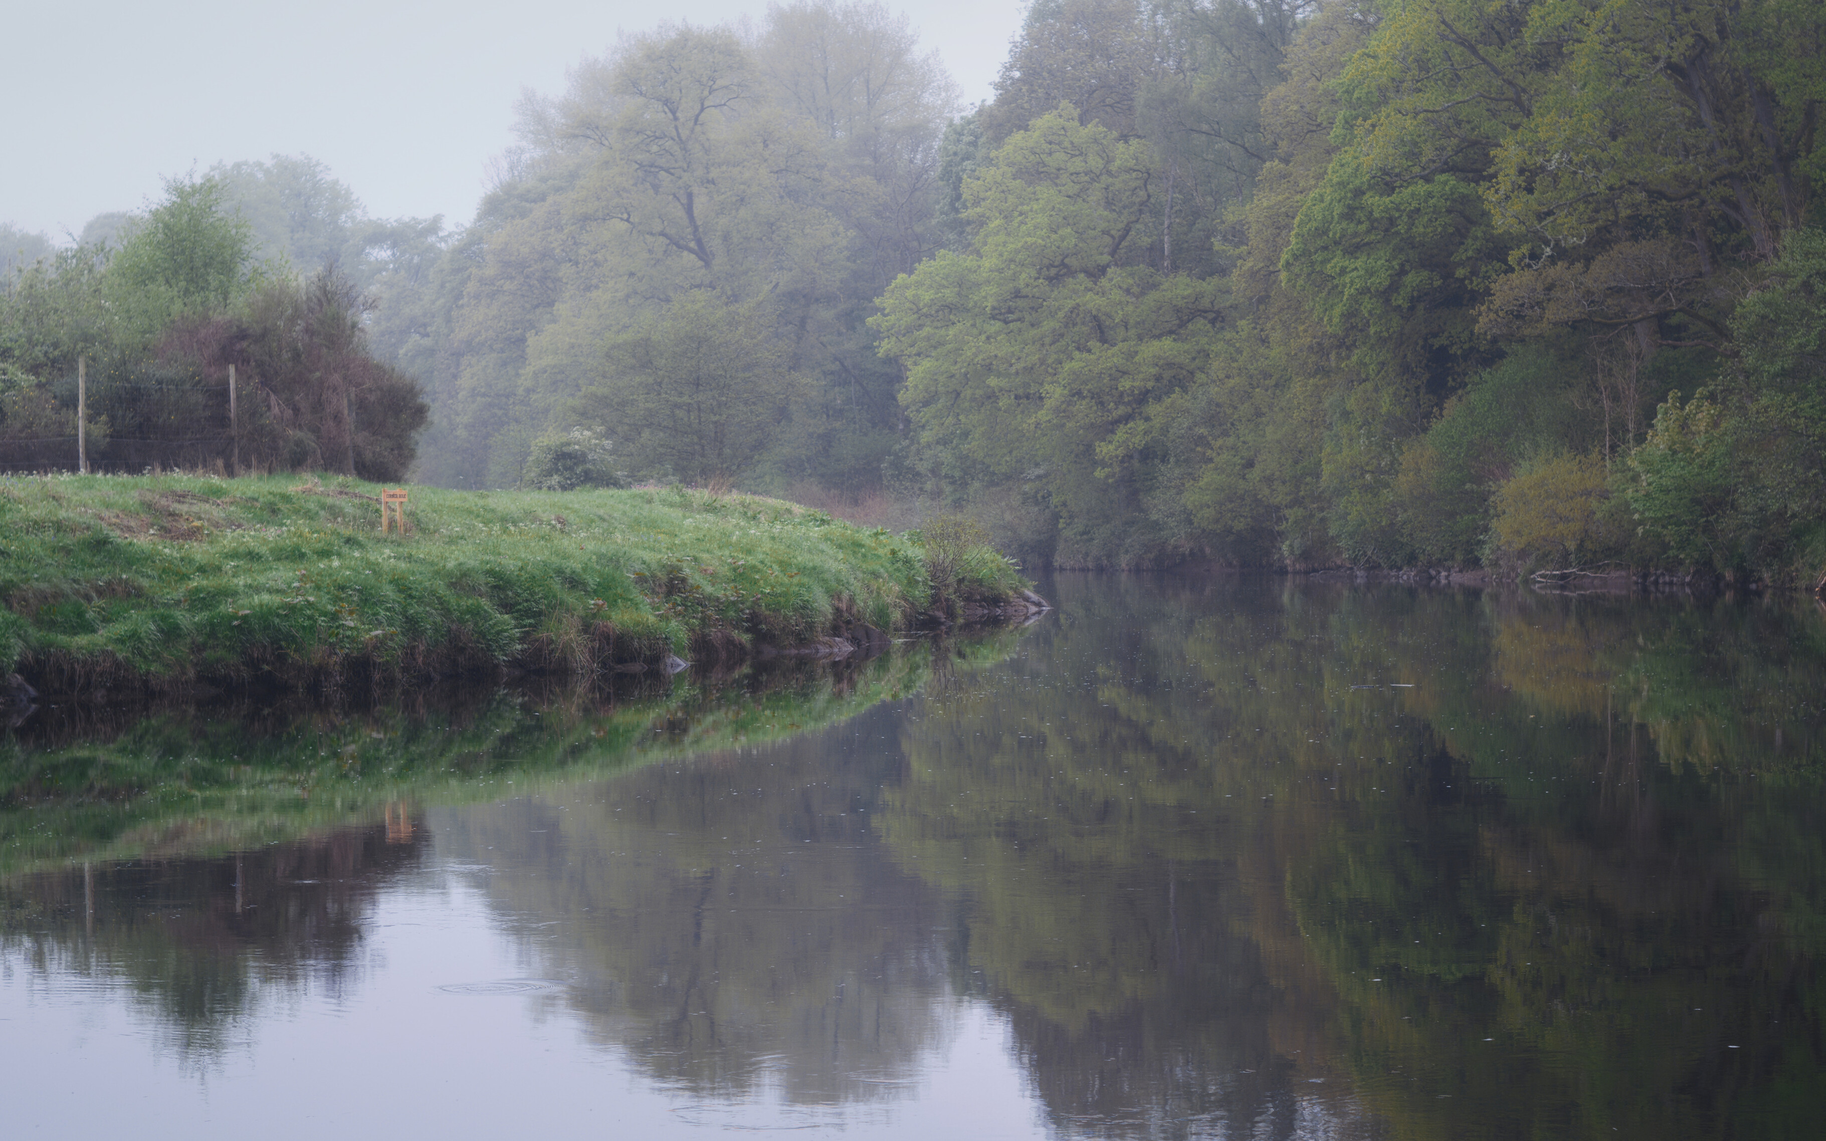
POLYGON ((254 250, 212 175, 168 183, 121 248, 58 250, 9 279, 0 466, 77 466, 80 360, 91 466, 228 467, 239 455, 268 471, 404 476, 429 407, 371 351, 374 301, 334 265, 299 281, 254 250))

